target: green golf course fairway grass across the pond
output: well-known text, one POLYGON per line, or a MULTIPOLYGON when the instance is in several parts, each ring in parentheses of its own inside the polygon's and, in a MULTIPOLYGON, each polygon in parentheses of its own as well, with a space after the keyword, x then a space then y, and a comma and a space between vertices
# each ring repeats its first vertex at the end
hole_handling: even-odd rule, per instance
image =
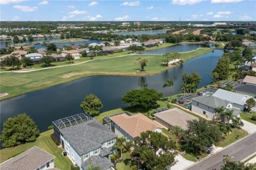
MULTIPOLYGON (((202 48, 190 53, 182 53, 182 60, 186 61, 190 58, 209 53, 212 49, 202 48)), ((92 75, 153 75, 163 72, 171 67, 161 66, 162 56, 151 54, 130 54, 121 57, 109 57, 90 60, 79 65, 66 66, 61 68, 51 68, 47 70, 38 70, 27 73, 0 73, 1 76, 1 93, 9 93, 3 96, 1 100, 11 98, 13 96, 23 95, 32 91, 46 89, 54 85, 74 81, 81 77, 92 75), (148 59, 146 72, 139 72, 139 64, 134 64, 136 58, 148 59)), ((174 67, 174 66, 172 66, 174 67)))

